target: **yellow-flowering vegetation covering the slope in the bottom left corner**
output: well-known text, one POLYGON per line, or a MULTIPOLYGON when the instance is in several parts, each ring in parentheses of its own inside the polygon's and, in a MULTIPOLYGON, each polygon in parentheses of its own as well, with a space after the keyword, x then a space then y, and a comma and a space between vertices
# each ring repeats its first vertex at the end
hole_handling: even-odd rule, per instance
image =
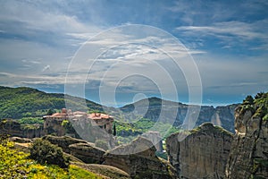
POLYGON ((14 149, 14 143, 7 136, 0 136, 0 178, 103 178, 92 172, 70 165, 61 168, 57 165, 39 164, 38 161, 29 159, 29 153, 14 149))

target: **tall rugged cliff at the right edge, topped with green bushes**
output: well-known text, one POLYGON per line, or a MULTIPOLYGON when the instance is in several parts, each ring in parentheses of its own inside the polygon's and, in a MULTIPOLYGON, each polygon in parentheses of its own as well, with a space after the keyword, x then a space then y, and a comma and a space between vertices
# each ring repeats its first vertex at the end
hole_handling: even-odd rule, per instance
POLYGON ((227 178, 268 177, 268 93, 235 110, 236 134, 226 166, 227 178))

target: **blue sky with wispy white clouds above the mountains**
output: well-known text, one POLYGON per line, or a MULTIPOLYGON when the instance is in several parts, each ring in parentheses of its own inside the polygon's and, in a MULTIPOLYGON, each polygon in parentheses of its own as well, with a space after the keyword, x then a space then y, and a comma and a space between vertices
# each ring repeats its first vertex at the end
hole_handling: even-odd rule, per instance
POLYGON ((268 90, 268 2, 0 1, 0 85, 121 107, 268 90))

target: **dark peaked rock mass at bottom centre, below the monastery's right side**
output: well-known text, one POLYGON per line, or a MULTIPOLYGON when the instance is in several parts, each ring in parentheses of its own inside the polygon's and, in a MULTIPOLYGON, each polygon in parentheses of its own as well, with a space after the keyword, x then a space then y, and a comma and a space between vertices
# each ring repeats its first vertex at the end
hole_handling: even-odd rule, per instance
POLYGON ((151 141, 139 137, 129 145, 119 146, 105 153, 105 165, 127 172, 131 178, 175 178, 174 170, 155 156, 151 141))

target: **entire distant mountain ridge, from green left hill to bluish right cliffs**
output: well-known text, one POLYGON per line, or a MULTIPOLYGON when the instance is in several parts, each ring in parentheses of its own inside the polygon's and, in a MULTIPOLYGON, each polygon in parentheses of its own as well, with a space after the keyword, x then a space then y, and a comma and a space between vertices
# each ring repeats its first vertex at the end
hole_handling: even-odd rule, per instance
MULTIPOLYGON (((173 124, 180 126, 187 116, 188 109, 191 115, 197 112, 197 106, 163 100, 161 98, 146 98, 121 108, 103 107, 86 99, 87 107, 82 106, 83 98, 59 93, 46 93, 28 87, 9 88, 0 86, 0 119, 21 118, 27 116, 46 115, 49 109, 60 110, 65 107, 65 100, 71 104, 72 110, 105 111, 113 115, 116 120, 135 122, 140 118, 147 118, 153 122, 173 124), (64 97, 67 97, 64 98, 64 97), (76 108, 75 108, 76 107, 76 108)), ((202 106, 197 118, 196 126, 205 122, 222 125, 223 128, 234 132, 234 109, 238 104, 225 107, 202 106)))

